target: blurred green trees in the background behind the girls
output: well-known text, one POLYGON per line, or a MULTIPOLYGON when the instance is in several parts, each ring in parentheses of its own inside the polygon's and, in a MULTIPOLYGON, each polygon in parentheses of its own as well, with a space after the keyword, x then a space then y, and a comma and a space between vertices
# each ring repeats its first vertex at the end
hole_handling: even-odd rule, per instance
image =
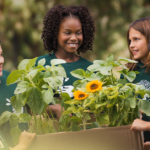
POLYGON ((126 31, 131 22, 150 14, 149 0, 0 0, 0 40, 4 69, 12 71, 24 58, 46 54, 41 33, 46 12, 57 4, 88 6, 95 20, 94 51, 90 61, 110 53, 128 57, 126 31))

